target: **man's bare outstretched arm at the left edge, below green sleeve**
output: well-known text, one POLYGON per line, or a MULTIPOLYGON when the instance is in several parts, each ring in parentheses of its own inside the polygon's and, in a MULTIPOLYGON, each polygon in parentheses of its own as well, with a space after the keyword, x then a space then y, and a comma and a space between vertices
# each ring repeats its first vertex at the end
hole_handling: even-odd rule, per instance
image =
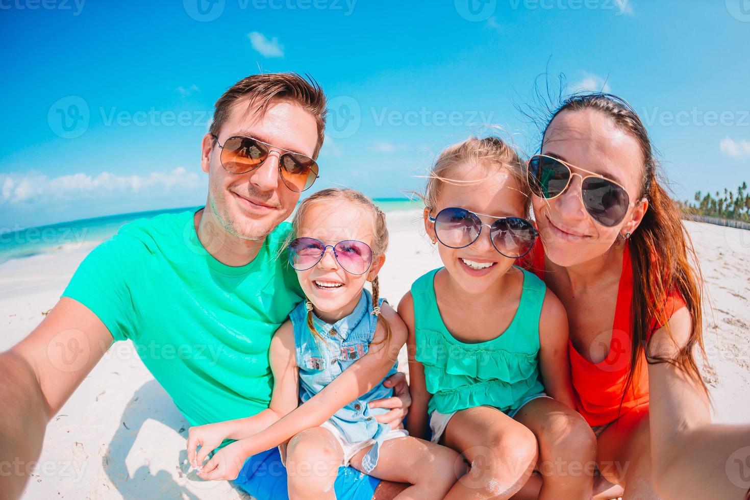
MULTIPOLYGON (((61 298, 28 337, 0 354, 0 463, 26 464, 39 458, 49 419, 112 342, 110 331, 91 310, 61 298)), ((11 473, 3 481, 3 493, 20 497, 27 479, 11 473)))

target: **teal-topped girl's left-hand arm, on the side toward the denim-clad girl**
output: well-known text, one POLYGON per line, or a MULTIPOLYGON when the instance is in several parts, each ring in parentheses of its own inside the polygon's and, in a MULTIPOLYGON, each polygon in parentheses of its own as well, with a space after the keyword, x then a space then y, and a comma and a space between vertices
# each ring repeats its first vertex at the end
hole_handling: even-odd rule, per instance
POLYGON ((432 395, 425 384, 425 367, 416 361, 416 340, 414 336, 414 301, 411 292, 407 292, 398 304, 398 315, 407 325, 407 354, 409 355, 409 392, 412 407, 407 420, 409 435, 424 439, 428 429, 428 403, 432 395))

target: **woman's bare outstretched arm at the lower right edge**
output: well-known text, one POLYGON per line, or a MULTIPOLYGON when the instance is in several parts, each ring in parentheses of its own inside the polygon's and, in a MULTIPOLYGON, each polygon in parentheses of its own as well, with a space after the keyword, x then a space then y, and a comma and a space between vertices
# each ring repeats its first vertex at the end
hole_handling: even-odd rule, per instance
MULTIPOLYGON (((691 332, 687 308, 652 336, 649 354, 672 358, 691 332), (670 335, 671 334, 671 335, 670 335)), ((664 499, 742 499, 750 471, 750 426, 710 423, 697 381, 672 364, 649 364, 654 487, 664 499), (744 484, 744 486, 742 486, 744 484)))

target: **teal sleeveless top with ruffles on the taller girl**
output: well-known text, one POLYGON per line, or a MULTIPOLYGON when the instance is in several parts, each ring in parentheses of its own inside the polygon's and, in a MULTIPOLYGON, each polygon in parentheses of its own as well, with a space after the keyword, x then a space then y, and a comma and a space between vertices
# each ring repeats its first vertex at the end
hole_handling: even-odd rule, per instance
POLYGON ((427 390, 432 394, 428 412, 452 414, 493 406, 514 414, 529 400, 544 395, 538 369, 544 282, 520 269, 523 292, 508 328, 486 342, 464 343, 452 336, 440 317, 434 288, 437 271, 440 268, 420 277, 411 289, 416 360, 425 368, 427 390))

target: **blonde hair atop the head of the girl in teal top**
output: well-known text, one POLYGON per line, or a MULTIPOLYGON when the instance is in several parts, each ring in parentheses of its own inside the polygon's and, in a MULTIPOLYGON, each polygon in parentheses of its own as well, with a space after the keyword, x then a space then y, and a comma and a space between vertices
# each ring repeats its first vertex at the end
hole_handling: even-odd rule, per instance
POLYGON ((526 164, 514 148, 496 136, 484 138, 472 136, 463 142, 448 146, 440 153, 428 175, 425 193, 418 194, 430 211, 437 206, 445 184, 475 184, 477 182, 450 178, 452 169, 467 163, 484 166, 491 169, 492 173, 504 172, 511 175, 517 181, 519 192, 524 197, 523 217, 528 217, 531 191, 526 178, 526 164))

